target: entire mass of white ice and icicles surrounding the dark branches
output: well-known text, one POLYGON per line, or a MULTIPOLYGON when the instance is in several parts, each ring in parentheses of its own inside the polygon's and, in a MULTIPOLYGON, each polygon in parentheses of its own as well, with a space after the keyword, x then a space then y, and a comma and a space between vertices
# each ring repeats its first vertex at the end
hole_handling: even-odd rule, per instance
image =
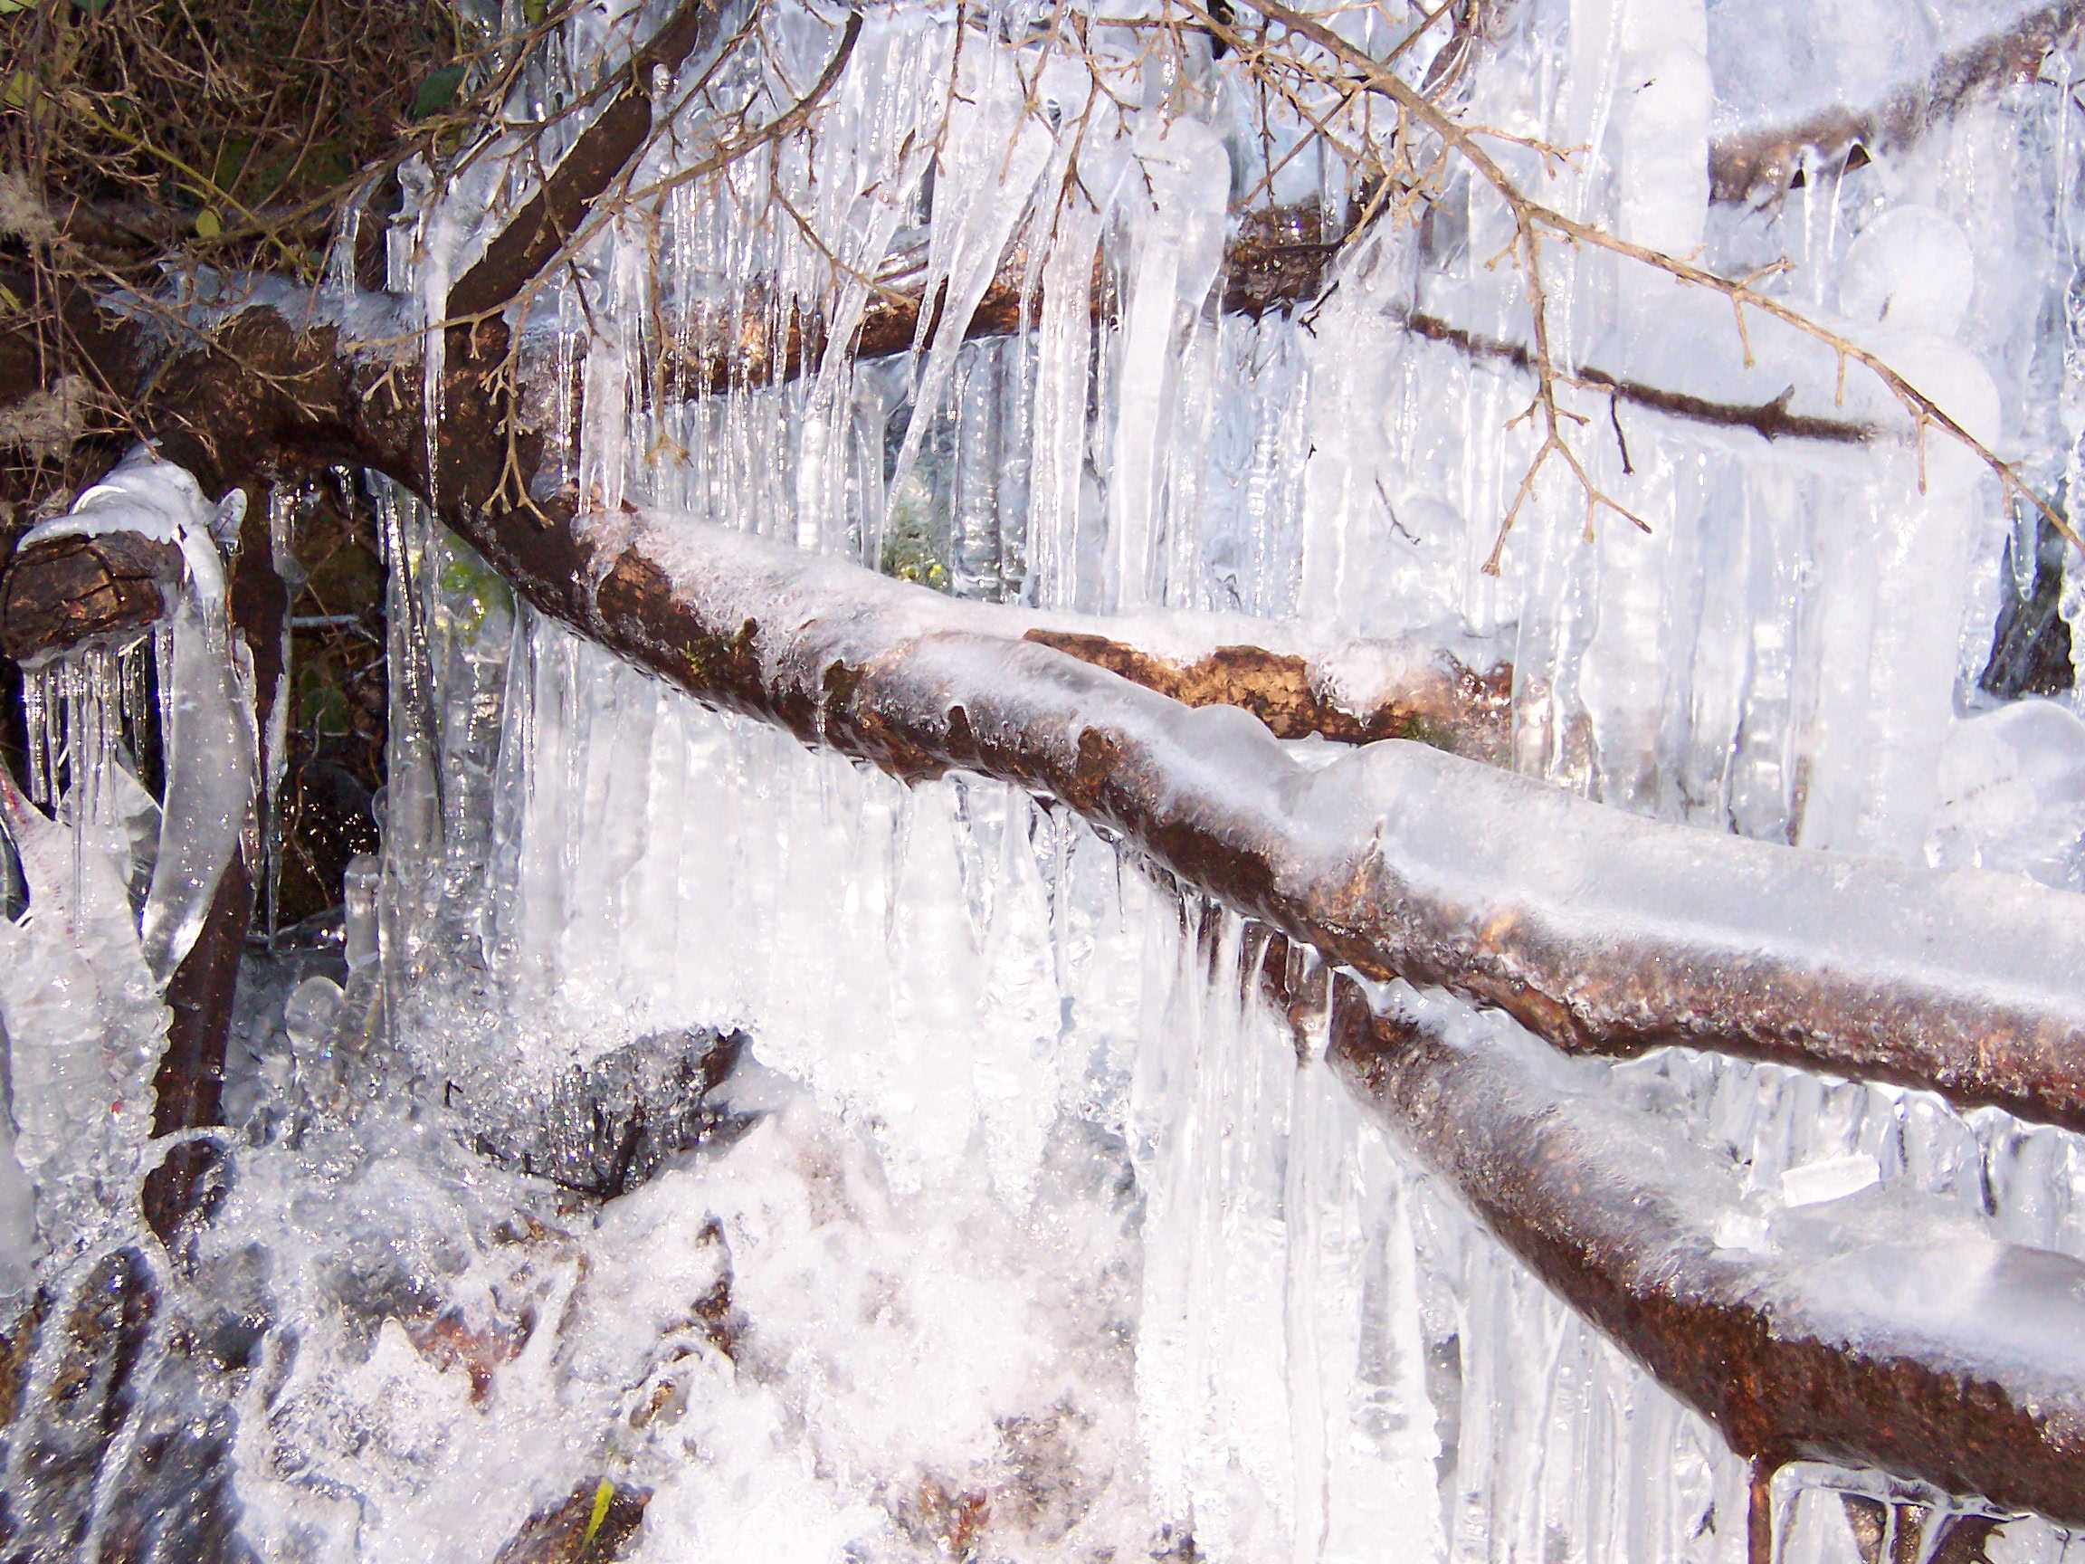
MULTIPOLYGON (((515 117, 569 102, 655 19, 578 8, 515 117)), ((2075 936, 2037 930, 2066 899, 1918 867, 2081 888, 2075 697, 1993 711, 1977 688, 2025 586, 2006 559, 2035 555, 2031 507, 1931 430, 1910 438, 1829 342, 1753 315, 1741 344, 1726 300, 1551 244, 1578 450, 1653 526, 1605 515, 1587 536, 1553 471, 1485 573, 1539 440, 1510 423, 1526 377, 1457 346, 1528 338, 1518 275, 1487 267, 1505 213, 1451 175, 1424 221, 1368 227, 1311 307, 1216 309, 1234 202, 1343 223, 1374 192, 1205 29, 1155 19, 865 10, 815 136, 703 179, 673 175, 796 102, 840 25, 776 6, 765 52, 659 81, 673 133, 630 184, 651 194, 530 302, 557 427, 578 421, 555 482, 586 496, 592 536, 642 530, 671 559, 680 530, 690 592, 703 561, 834 555, 965 598, 980 634, 1020 607, 1143 644, 1453 638, 1512 661, 1516 769, 1578 799, 1391 751, 1326 765, 1236 713, 1172 740, 1218 797, 1307 840, 1376 840, 1443 884, 1535 886, 1574 913, 1655 882, 1668 932, 1720 920, 1737 957, 1779 943, 1889 968, 1904 947, 1860 920, 1933 884, 1912 966, 1995 972, 2060 1011, 2072 974, 2050 951, 2075 936), (965 340, 1009 265, 1024 329, 965 340), (855 361, 853 323, 899 284, 942 307, 909 352, 855 361), (792 311, 838 344, 805 373, 769 348, 715 394, 667 394, 788 340, 792 311), (1405 329, 1418 315, 1443 332, 1405 329), (1618 380, 1906 438, 1766 446, 1589 390, 1618 380), (1264 790, 1238 797, 1261 757, 1264 790), (1384 824, 1355 778, 1403 769, 1384 824), (1645 838, 1618 811, 1670 830, 1628 859, 1645 838), (1697 851, 1710 834, 1801 851, 1697 851), (1739 859, 1749 884, 1706 878, 1739 859), (1949 949, 1993 905, 2016 909, 2004 945, 1949 949)), ((1724 140, 1799 121, 1826 83, 1879 102, 2004 21, 1966 0, 1916 21, 1881 0, 1532 0, 1468 73, 1449 50, 1470 40, 1445 29, 1401 69, 1439 65, 1557 211, 1733 275, 1787 256, 1762 288, 1899 365, 2039 492, 2075 494, 2075 48, 1864 165, 1806 150, 1785 198, 1710 202, 1724 140)), ((1372 52, 1407 23, 1395 4, 1336 19, 1372 52)), ((430 392, 448 286, 528 194, 502 150, 446 184, 419 171, 390 231, 430 392)), ((161 986, 254 790, 250 674, 181 478, 142 455, 58 523, 161 528, 192 559, 152 649, 161 817, 136 782, 140 651, 33 674, 56 820, 0 797, 0 1285, 42 1280, 60 1314, 123 1278, 144 1299, 106 1449, 92 1397, 58 1391, 79 1383, 67 1337, 25 1364, 27 1406, 52 1408, 8 1433, 27 1547, 144 1533, 179 1558, 236 1529, 263 1558, 494 1558, 605 1483, 644 1495, 632 1560, 1743 1558, 1743 1462, 1370 1118, 1322 1026, 1268 1001, 1266 930, 1005 782, 907 788, 698 707, 515 605, 390 486, 384 855, 350 872, 344 959, 250 984, 234 1122, 208 1137, 223 1203, 163 1251, 129 1193, 158 1155, 161 986), (586 1111, 573 1078, 723 1032, 751 1041, 703 1097, 707 1147, 609 1201, 540 1176, 528 1126, 600 1130, 565 1122, 586 1111)), ((819 626, 826 653, 882 644, 876 615, 903 613, 863 603, 819 626)), ((1366 684, 1368 655, 1349 674, 1366 684)), ((1589 963, 1616 943, 1593 928, 1589 963)), ((1820 1328, 1858 1335, 1889 1305, 1989 1347, 1949 1303, 1995 1287, 1979 1260, 2085 1260, 2062 1130, 1708 1053, 1564 1068, 1495 1011, 1395 1003, 1487 1068, 1524 1064, 1514 1084, 1553 1076, 1595 1118, 1685 1126, 1716 1245, 1816 1262, 1804 1308, 1843 1303, 1820 1328), (1885 1243, 1906 1228, 1935 1235, 1910 1278, 1885 1243)), ((2075 1343, 2020 1335, 2066 1372, 2075 1343)), ((1858 1556, 1849 1504, 1947 1504, 1876 1472, 1797 1468, 1781 1489, 1779 1558, 1806 1562, 1858 1556)), ((1991 1556, 2066 1547, 2029 1518, 1991 1556)))

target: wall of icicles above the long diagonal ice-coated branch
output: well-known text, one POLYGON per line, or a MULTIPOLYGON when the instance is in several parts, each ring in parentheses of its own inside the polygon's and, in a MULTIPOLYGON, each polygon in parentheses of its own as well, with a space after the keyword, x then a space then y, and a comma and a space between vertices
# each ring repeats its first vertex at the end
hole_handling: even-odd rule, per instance
MULTIPOLYGON (((580 27, 528 108, 555 108, 600 52, 630 48, 636 15, 580 27)), ((1140 19, 1138 6, 1120 27, 876 13, 815 138, 671 184, 786 108, 838 29, 780 8, 761 60, 740 50, 707 75, 690 63, 661 94, 680 108, 676 136, 632 181, 671 188, 632 200, 582 248, 582 282, 536 300, 567 365, 584 350, 578 373, 555 377, 557 396, 586 390, 563 480, 609 511, 678 509, 995 601, 1245 609, 1353 634, 1455 624, 1518 667, 1520 769, 1718 830, 1918 857, 1949 826, 1943 805, 1991 784, 2004 757, 1952 717, 1958 692, 1981 701, 2002 598, 2031 584, 2031 507, 1937 432, 1910 438, 1902 409, 1833 348, 1553 244, 1566 373, 1781 402, 1885 438, 1768 450, 1749 430, 1568 392, 1589 419, 1574 438, 1593 480, 1651 532, 1605 515, 1589 538, 1583 494, 1553 469, 1503 573, 1485 576, 1539 438, 1510 427, 1530 386, 1403 321, 1528 342, 1520 275, 1487 265, 1512 236, 1503 206, 1451 163, 1426 221, 1376 223, 1322 304, 1224 317, 1234 202, 1311 202, 1336 229, 1366 192, 1234 54, 1140 19), (965 346, 1009 256, 1030 329, 965 346), (886 288, 947 302, 922 313, 909 355, 857 363, 844 342, 886 288), (776 388, 792 313, 838 346, 776 388), (669 390, 713 363, 740 365, 726 394, 669 390)), ((1397 6, 1336 17, 1376 52, 1405 21, 1397 6)), ((1904 29, 1864 0, 1760 29, 1697 2, 1547 0, 1493 19, 1455 106, 1587 148, 1497 148, 1568 215, 1733 275, 1787 256, 1762 288, 1881 352, 2052 494, 2085 448, 2079 323, 2058 307, 2081 265, 2068 52, 2041 81, 1972 100, 1868 163, 1806 165, 1785 200, 1708 200, 1718 133, 1799 121, 1814 83, 1881 100, 2006 21, 1954 6, 1904 29), (2062 342, 2043 338, 2052 319, 2062 342)), ((1401 69, 1422 79, 1437 42, 1401 69)), ((1326 123, 1351 136, 1362 113, 1326 123)), ((555 127, 546 150, 569 133, 555 127)), ((502 204, 513 179, 486 156, 400 231, 396 279, 430 317, 517 200, 502 204)), ((2047 726, 2029 749, 2075 769, 2085 734, 2047 726)))

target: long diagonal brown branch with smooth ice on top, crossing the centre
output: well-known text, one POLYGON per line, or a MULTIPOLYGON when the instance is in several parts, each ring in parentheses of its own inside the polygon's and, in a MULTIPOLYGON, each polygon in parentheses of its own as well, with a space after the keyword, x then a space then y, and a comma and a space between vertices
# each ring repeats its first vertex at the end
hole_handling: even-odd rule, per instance
POLYGON ((457 515, 538 609, 696 699, 915 778, 997 776, 1378 978, 1549 1043, 1691 1043, 2085 1128, 2070 897, 1626 815, 1382 742, 1311 769, 959 605, 673 517, 457 515))

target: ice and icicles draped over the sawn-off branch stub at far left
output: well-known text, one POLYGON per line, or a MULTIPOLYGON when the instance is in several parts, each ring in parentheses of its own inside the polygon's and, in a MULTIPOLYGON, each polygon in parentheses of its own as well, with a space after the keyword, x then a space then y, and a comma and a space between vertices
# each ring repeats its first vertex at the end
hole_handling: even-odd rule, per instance
MULTIPOLYGON (((252 674, 227 626, 217 536, 242 505, 213 513, 186 469, 140 448, 27 538, 123 530, 186 559, 179 601, 148 642, 25 669, 29 797, 0 772, 10 1151, 35 1187, 33 1232, 60 1253, 138 1220, 167 980, 254 828, 252 674), (144 780, 152 759, 158 797, 144 780)), ((0 1182, 19 1285, 35 1243, 13 1178, 0 1182)))

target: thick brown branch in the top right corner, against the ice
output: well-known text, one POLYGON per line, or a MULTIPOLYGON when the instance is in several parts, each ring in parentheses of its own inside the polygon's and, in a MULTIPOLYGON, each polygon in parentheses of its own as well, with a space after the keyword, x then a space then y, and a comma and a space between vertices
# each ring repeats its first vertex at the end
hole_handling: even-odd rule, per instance
POLYGON ((2052 0, 1943 54, 1927 79, 1872 108, 1835 104, 1793 125, 1726 136, 1710 148, 1710 194, 1724 202, 1766 200, 1789 188, 1806 152, 1843 158, 1856 144, 1876 152, 1906 146, 1970 98, 2010 81, 2033 81, 2050 50, 2079 23, 2085 23, 2085 0, 2052 0))

